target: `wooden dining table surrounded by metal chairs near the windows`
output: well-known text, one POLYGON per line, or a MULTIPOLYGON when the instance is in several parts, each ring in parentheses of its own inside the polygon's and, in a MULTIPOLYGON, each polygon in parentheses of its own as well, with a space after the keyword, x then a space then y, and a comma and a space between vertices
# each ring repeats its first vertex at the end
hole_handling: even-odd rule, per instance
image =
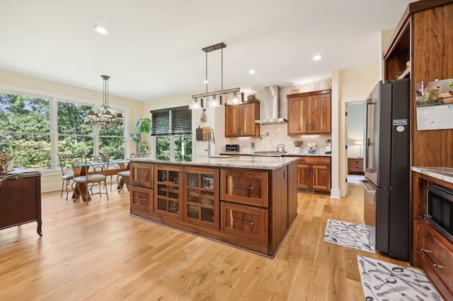
MULTIPOLYGON (((103 174, 106 177, 110 176, 113 177, 114 175, 117 175, 118 172, 123 172, 125 170, 129 170, 129 160, 109 160, 108 161, 108 168, 107 170, 103 170, 102 172, 94 172, 95 174, 103 174)), ((96 166, 96 164, 103 164, 103 163, 96 163, 96 162, 91 162, 88 165, 84 164, 73 164, 72 165, 72 172, 74 173, 74 177, 80 177, 86 175, 87 172, 87 167, 89 168, 90 166, 96 166)), ((111 179, 110 179, 111 180, 111 179)), ((120 179, 120 182, 117 184, 117 189, 122 188, 125 185, 125 179, 120 179)), ((88 201, 91 201, 91 196, 88 194, 88 186, 86 184, 79 184, 78 187, 74 188, 72 191, 72 196, 71 199, 78 199, 80 196, 83 196, 81 199, 82 201, 85 201, 88 199, 88 201), (85 198, 85 196, 87 196, 85 198)))

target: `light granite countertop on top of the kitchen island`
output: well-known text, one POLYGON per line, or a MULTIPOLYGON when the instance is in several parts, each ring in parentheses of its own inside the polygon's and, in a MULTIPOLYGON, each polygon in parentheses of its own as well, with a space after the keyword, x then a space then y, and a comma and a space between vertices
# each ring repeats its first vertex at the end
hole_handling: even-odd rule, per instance
POLYGON ((194 165, 194 166, 212 166, 212 167, 236 167, 236 168, 251 168, 256 170, 277 170, 280 167, 289 165, 298 158, 292 157, 228 157, 227 155, 216 155, 210 158, 194 158, 192 161, 166 161, 156 160, 153 158, 131 158, 135 162, 149 162, 149 163, 164 163, 174 165, 194 165))

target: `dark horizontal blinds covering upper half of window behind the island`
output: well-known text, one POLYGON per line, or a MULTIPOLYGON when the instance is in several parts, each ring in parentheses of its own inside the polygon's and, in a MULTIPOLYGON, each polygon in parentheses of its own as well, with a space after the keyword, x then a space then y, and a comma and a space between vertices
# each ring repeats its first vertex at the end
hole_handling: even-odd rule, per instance
POLYGON ((192 111, 188 106, 151 111, 151 136, 192 134, 192 111))

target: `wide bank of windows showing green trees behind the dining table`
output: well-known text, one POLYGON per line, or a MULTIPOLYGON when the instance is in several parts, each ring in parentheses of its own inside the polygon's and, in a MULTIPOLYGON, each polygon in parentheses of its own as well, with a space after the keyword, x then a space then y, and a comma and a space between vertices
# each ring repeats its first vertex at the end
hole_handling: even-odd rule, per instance
POLYGON ((0 91, 0 136, 8 137, 12 167, 56 169, 57 152, 108 153, 112 159, 124 159, 124 126, 98 129, 86 124, 86 112, 91 107, 0 91))

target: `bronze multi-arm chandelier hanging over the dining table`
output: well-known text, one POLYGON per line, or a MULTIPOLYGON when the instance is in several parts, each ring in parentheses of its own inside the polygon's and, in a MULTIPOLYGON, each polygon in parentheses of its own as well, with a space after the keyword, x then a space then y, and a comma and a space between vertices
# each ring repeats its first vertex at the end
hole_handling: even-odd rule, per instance
POLYGON ((124 117, 121 113, 117 113, 116 116, 110 112, 110 105, 108 103, 108 80, 110 76, 101 76, 103 79, 103 89, 102 89, 102 112, 101 115, 90 110, 86 114, 88 124, 93 126, 101 126, 107 128, 108 126, 122 126, 122 119, 124 117))

